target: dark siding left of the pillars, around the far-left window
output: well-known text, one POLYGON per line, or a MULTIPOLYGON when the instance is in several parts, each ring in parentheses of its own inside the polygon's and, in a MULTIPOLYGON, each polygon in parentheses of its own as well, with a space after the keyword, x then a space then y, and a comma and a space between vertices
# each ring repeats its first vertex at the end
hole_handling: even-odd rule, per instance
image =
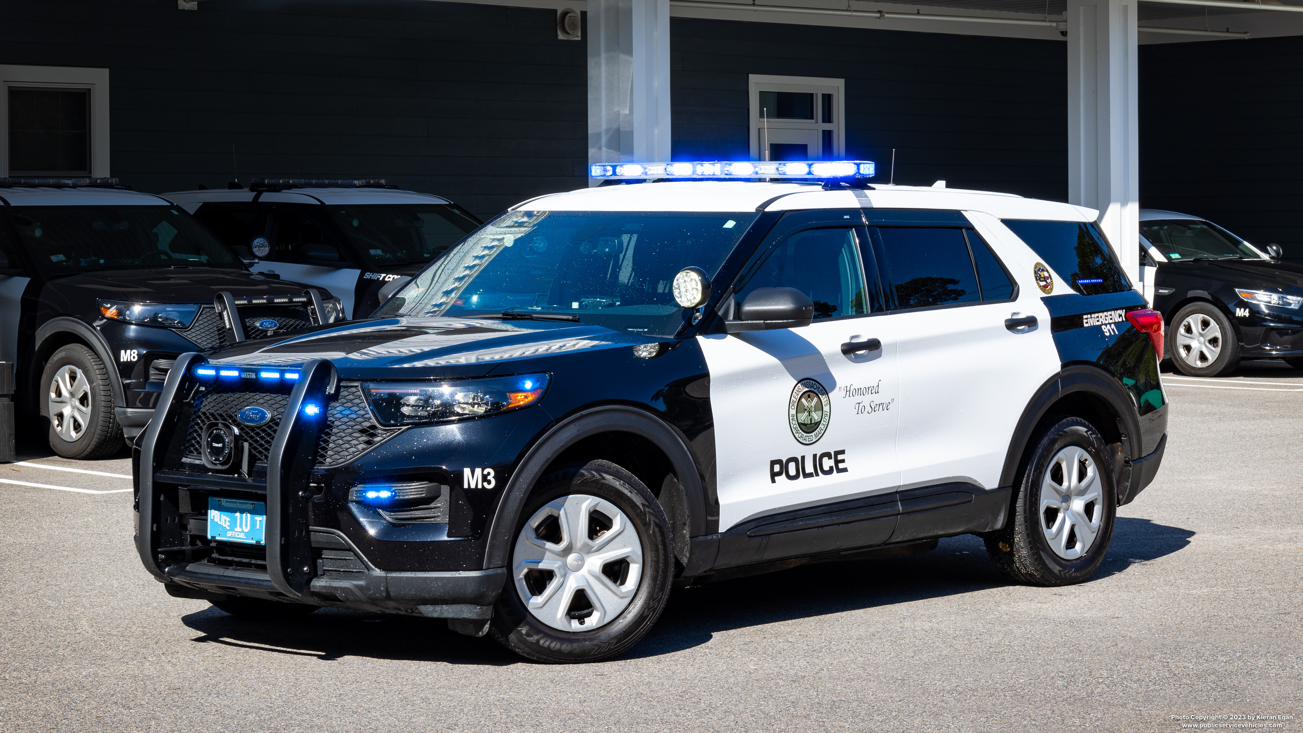
POLYGON ((585 185, 585 44, 555 10, 3 0, 0 63, 109 68, 112 175, 138 190, 384 177, 490 215, 585 185))

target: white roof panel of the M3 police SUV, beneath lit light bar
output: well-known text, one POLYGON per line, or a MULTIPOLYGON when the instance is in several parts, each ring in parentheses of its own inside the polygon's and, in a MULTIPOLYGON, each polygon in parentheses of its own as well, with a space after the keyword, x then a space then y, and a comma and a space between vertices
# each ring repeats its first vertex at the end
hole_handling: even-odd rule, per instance
POLYGON ((1093 222, 1084 206, 1023 198, 1010 193, 908 185, 870 190, 823 190, 821 184, 666 181, 585 188, 532 198, 517 211, 766 211, 788 209, 949 209, 984 211, 1001 219, 1093 222), (777 198, 775 197, 780 197, 777 198), (773 200, 773 201, 771 201, 773 200), (767 205, 766 205, 767 202, 767 205))

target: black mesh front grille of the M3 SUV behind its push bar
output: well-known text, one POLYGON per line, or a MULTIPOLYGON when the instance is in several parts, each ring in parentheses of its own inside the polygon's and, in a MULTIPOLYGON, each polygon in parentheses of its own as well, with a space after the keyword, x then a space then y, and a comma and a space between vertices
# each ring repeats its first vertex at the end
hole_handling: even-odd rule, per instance
MULTIPOLYGON (((271 453, 271 441, 276 437, 280 419, 289 403, 289 395, 270 391, 218 391, 199 393, 194 399, 190 426, 185 440, 185 458, 202 462, 203 426, 212 421, 235 425, 240 440, 249 442, 251 466, 266 466, 271 453), (271 420, 262 425, 242 425, 236 415, 249 406, 258 406, 271 413, 271 420)), ((326 429, 317 442, 317 466, 343 466, 362 455, 371 447, 390 440, 403 428, 382 428, 371 417, 371 411, 362 398, 357 385, 343 385, 339 396, 326 411, 326 429)), ((238 466, 238 456, 236 466, 238 466)))

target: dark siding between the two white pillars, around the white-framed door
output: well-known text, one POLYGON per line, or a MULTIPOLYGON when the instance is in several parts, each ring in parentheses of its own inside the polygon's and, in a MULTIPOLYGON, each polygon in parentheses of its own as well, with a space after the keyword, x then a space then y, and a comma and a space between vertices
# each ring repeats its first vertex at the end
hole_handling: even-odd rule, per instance
POLYGON ((674 158, 748 159, 747 74, 846 80, 846 151, 886 183, 1067 200, 1067 48, 1055 40, 670 21, 674 158))

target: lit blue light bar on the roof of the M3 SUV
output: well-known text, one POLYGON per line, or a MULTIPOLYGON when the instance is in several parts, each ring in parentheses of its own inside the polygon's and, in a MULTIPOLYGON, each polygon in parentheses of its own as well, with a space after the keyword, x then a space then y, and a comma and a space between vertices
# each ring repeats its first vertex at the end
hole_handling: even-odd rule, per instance
POLYGON ((598 163, 594 179, 868 179, 877 172, 872 160, 714 160, 709 163, 598 163))

